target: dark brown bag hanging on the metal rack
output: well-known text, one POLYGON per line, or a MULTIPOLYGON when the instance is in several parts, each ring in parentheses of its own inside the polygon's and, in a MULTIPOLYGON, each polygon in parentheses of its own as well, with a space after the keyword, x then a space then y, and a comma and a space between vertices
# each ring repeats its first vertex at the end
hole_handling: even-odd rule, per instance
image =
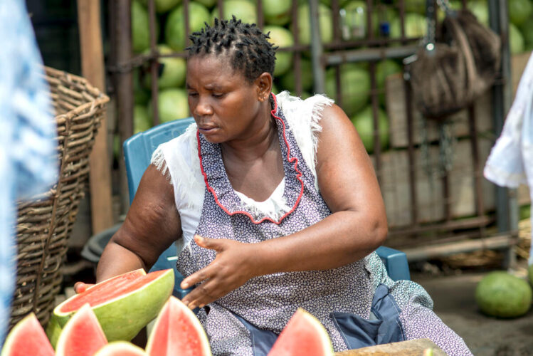
POLYGON ((416 107, 424 117, 443 120, 467 107, 485 92, 500 68, 500 37, 483 26, 468 10, 446 11, 442 25, 434 21, 428 0, 428 36, 408 63, 416 107))

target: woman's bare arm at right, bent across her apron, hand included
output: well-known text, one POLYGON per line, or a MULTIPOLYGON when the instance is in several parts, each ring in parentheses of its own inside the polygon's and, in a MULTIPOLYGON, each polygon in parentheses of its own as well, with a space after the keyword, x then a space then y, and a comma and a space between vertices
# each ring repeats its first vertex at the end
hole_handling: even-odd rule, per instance
POLYGON ((191 308, 221 298, 254 276, 337 268, 383 244, 388 231, 384 202, 354 125, 337 105, 324 109, 320 123, 317 177, 333 214, 295 234, 258 244, 195 236, 199 246, 217 255, 181 283, 188 288, 209 279, 184 298, 191 308))

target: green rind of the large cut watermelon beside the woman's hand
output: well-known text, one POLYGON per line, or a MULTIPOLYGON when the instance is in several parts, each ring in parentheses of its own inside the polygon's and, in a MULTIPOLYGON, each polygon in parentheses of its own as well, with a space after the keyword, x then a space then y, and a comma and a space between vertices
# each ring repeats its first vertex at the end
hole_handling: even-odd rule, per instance
MULTIPOLYGON (((169 269, 145 286, 91 308, 108 341, 130 341, 144 326, 157 317, 159 310, 169 299, 173 289, 174 271, 169 269)), ((61 328, 76 311, 60 312, 63 305, 69 301, 70 299, 65 300, 53 310, 61 328)))

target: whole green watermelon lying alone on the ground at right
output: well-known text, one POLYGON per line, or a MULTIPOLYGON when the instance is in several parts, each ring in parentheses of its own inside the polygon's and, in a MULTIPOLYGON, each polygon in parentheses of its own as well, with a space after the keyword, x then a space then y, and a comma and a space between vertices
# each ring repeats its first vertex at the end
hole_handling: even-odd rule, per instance
POLYGON ((515 318, 531 307, 532 289, 522 278, 505 271, 488 273, 477 283, 475 300, 482 313, 515 318))

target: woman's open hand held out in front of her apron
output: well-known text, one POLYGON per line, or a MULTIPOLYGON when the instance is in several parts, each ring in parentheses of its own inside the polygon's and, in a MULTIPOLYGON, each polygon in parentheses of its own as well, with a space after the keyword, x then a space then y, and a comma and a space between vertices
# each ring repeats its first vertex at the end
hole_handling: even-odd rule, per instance
POLYGON ((186 289, 201 283, 187 294, 182 302, 194 309, 223 297, 224 295, 242 286, 246 281, 255 276, 256 244, 244 244, 228 239, 209 239, 194 236, 194 241, 200 247, 216 251, 216 258, 200 271, 181 281, 181 288, 186 289))

